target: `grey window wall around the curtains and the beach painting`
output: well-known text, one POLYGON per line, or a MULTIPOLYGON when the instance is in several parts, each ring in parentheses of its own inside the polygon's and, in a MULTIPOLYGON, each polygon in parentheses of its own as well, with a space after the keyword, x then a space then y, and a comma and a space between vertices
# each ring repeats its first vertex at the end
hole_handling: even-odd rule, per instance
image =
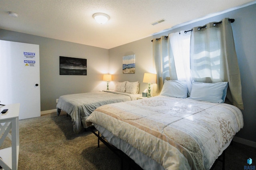
POLYGON ((180 30, 190 30, 192 27, 203 26, 223 18, 235 19, 232 29, 242 81, 244 128, 236 137, 256 142, 256 4, 112 48, 109 50, 110 70, 118 80, 126 80, 128 76, 131 80, 139 80, 141 93, 148 86, 142 83, 143 74, 152 69, 153 38, 180 30), (134 75, 122 74, 122 56, 131 54, 136 55, 136 72, 134 75))

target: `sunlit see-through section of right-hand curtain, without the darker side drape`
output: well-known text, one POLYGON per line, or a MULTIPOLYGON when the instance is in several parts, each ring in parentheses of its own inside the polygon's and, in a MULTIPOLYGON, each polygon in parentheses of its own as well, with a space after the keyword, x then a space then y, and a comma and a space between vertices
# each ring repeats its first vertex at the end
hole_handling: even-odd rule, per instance
POLYGON ((221 55, 221 24, 193 28, 191 36, 191 78, 196 82, 224 81, 224 57, 221 55))

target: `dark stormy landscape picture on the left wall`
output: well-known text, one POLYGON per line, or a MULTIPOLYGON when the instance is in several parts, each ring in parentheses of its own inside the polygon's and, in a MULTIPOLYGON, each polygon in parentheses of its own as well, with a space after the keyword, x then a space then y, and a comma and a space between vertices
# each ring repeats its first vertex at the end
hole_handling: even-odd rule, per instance
POLYGON ((60 56, 60 75, 87 75, 87 59, 60 56))

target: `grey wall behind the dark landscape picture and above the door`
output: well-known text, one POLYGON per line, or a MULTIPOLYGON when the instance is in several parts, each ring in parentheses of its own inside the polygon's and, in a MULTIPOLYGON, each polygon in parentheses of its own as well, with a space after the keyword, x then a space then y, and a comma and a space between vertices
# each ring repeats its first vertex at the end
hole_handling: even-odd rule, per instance
POLYGON ((56 109, 59 96, 106 88, 102 78, 108 73, 108 49, 4 29, 0 39, 39 45, 41 111, 56 109), (87 76, 59 75, 59 56, 87 59, 87 76))

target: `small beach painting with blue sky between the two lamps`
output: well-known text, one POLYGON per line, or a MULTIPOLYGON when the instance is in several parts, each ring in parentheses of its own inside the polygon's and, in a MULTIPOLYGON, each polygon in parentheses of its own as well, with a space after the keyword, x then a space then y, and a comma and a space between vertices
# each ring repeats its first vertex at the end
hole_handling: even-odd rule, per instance
POLYGON ((123 57, 123 73, 135 73, 135 55, 123 57))

